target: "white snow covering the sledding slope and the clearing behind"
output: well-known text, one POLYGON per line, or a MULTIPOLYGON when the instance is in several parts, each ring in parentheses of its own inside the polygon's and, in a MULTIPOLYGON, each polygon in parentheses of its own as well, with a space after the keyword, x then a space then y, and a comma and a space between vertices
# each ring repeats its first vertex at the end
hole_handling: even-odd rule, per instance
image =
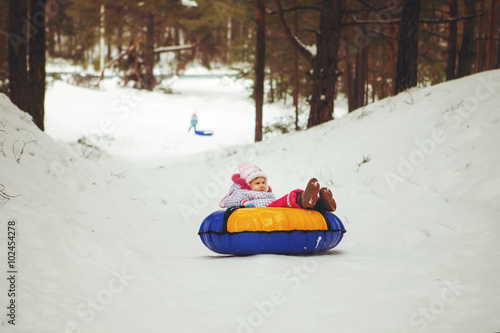
POLYGON ((56 82, 50 136, 0 95, 0 267, 11 226, 17 272, 15 296, 0 279, 2 332, 500 331, 500 71, 258 144, 244 88, 213 80, 135 96, 56 82), (213 137, 186 133, 194 109, 213 137), (277 196, 329 186, 339 246, 206 249, 198 227, 243 160, 277 196))

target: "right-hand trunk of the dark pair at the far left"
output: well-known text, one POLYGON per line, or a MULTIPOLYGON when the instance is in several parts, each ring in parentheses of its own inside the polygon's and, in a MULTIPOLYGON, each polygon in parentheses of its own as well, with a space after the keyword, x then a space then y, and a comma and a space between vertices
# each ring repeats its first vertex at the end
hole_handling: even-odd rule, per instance
POLYGON ((47 0, 30 0, 31 22, 36 27, 29 41, 29 87, 28 113, 33 122, 44 130, 45 114, 45 5, 47 0))

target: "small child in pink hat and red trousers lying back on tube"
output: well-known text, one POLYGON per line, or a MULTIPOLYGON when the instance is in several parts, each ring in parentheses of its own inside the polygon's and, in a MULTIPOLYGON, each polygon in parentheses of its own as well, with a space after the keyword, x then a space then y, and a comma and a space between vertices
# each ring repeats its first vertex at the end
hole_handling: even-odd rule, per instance
POLYGON ((239 174, 232 176, 233 185, 221 200, 221 208, 231 207, 286 207, 315 209, 333 212, 337 208, 332 192, 319 186, 316 178, 311 178, 305 190, 293 190, 276 200, 267 186, 267 176, 258 166, 243 162, 239 174))

